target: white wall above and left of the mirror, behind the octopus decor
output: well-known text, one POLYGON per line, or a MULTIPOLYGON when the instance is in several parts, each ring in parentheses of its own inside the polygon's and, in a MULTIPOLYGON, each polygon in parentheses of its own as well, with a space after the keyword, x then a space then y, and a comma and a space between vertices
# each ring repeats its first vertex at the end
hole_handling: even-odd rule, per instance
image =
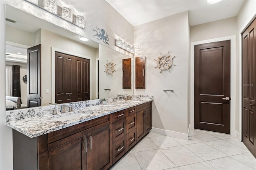
MULTIPOLYGON (((66 1, 72 3, 72 1, 66 1)), ((126 21, 112 6, 106 1, 81 1, 80 15, 86 18, 86 28, 80 29, 73 24, 64 21, 62 18, 54 16, 45 10, 34 6, 24 0, 0 0, 0 93, 5 94, 5 3, 21 9, 43 20, 55 23, 76 34, 94 40, 105 45, 102 41, 96 40, 93 35, 96 26, 104 29, 109 36, 109 46, 118 49, 114 45, 114 39, 121 37, 133 43, 133 26, 126 21)), ((40 41, 38 41, 40 42, 40 41)), ((48 67, 48 66, 47 66, 48 67)), ((48 88, 48 87, 47 87, 48 88)), ((12 170, 12 129, 5 125, 5 96, 0 96, 0 169, 12 170)))

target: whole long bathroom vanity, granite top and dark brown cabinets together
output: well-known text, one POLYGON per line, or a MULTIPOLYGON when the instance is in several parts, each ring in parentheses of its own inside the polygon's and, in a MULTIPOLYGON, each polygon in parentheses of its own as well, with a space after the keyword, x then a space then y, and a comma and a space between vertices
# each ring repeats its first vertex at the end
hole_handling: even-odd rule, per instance
POLYGON ((108 169, 152 128, 152 98, 98 104, 19 120, 7 114, 14 170, 108 169))

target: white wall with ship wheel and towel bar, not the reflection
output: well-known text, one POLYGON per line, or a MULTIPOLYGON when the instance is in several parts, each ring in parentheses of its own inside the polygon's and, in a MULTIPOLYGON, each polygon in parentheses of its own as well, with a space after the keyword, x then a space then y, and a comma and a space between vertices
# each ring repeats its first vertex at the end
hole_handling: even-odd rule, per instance
MULTIPOLYGON (((153 128, 165 129, 172 136, 188 132, 188 12, 182 12, 134 27, 137 56, 146 56, 146 89, 154 95, 153 128), (168 71, 155 69, 159 53, 170 51, 174 64, 168 71), (174 90, 164 92, 163 90, 174 90), (174 132, 172 132, 174 131, 174 132), (178 133, 177 133, 178 132, 178 133)), ((134 94, 145 90, 135 89, 134 94)))

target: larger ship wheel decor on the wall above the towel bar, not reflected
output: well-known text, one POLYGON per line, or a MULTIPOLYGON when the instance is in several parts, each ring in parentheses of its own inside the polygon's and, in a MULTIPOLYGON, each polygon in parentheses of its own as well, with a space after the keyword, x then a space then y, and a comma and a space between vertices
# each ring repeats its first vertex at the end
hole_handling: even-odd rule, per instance
POLYGON ((156 60, 156 67, 160 69, 160 73, 162 73, 163 70, 168 70, 170 72, 170 67, 172 67, 173 64, 173 58, 175 56, 171 57, 169 55, 169 51, 166 54, 160 53, 160 56, 155 59, 156 60))

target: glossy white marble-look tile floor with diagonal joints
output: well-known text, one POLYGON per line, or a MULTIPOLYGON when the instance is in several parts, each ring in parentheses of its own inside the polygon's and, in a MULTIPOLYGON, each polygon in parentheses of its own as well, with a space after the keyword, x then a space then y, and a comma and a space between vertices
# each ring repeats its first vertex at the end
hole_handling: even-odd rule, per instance
POLYGON ((202 130, 190 136, 150 132, 111 170, 256 170, 256 159, 234 136, 202 130))

